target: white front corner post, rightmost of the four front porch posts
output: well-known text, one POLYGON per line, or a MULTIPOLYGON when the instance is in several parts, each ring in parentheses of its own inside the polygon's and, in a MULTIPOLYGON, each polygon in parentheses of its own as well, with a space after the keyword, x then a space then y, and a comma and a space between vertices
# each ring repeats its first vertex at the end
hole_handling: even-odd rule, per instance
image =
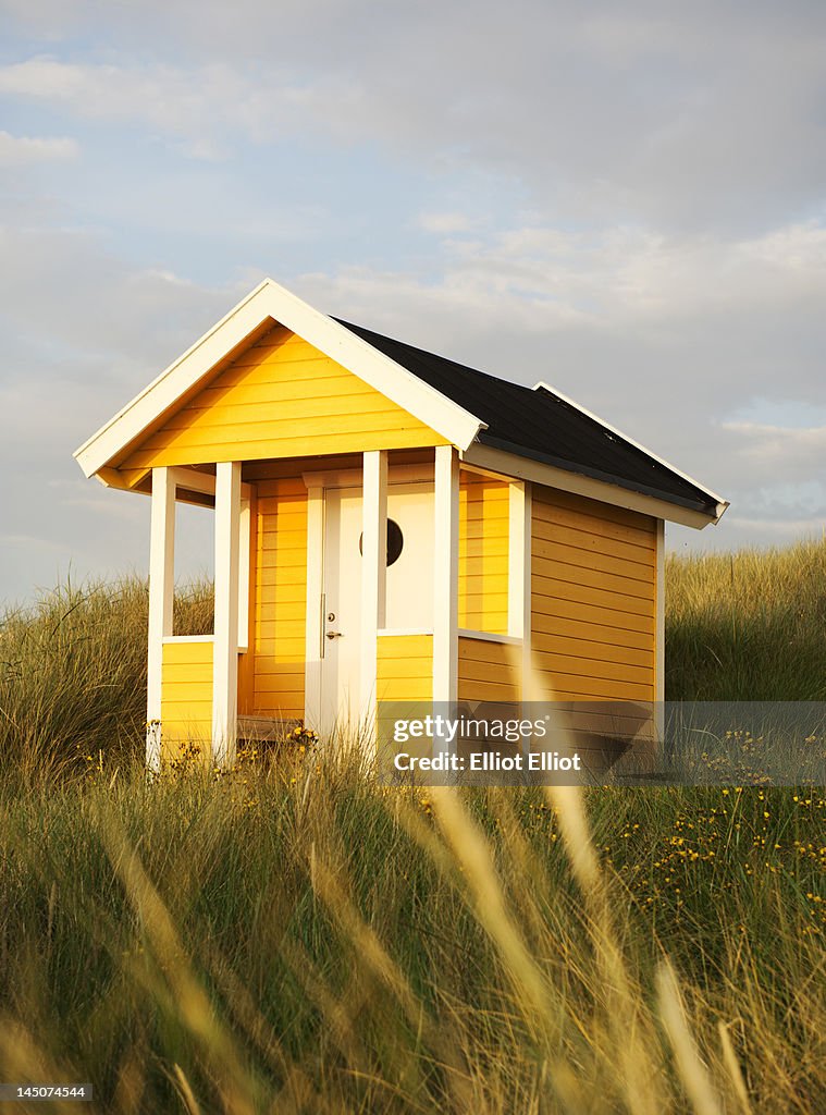
POLYGON ((434 700, 455 701, 459 668, 459 460, 436 448, 434 496, 434 700))

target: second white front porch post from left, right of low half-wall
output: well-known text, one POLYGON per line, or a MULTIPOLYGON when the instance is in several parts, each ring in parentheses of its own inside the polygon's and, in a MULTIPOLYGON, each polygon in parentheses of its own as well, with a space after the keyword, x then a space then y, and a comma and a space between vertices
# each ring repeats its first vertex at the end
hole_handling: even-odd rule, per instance
POLYGON ((222 462, 215 472, 215 643, 212 671, 212 760, 235 760, 239 705, 239 574, 241 554, 241 463, 222 462))

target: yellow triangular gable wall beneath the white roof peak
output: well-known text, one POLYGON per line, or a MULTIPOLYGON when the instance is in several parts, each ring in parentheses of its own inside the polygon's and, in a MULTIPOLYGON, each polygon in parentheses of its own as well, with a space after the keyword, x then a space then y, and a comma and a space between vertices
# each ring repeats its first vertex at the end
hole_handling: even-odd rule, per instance
POLYGON ((118 467, 210 464, 447 444, 434 430, 274 326, 118 467))

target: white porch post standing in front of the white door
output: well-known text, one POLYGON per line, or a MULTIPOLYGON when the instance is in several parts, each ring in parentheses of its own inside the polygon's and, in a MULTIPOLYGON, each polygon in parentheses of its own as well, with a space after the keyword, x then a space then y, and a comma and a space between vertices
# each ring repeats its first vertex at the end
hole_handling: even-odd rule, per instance
POLYGON ((376 729, 377 632, 385 624, 387 600, 387 450, 363 457, 359 704, 369 743, 376 729))

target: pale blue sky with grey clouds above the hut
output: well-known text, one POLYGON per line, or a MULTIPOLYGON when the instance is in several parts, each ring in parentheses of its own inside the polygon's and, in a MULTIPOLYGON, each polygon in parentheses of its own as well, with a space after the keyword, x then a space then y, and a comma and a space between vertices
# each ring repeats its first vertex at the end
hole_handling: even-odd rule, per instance
POLYGON ((822 0, 0 0, 0 599, 146 571, 72 452, 264 275, 731 502, 674 550, 823 536, 824 58, 822 0))

